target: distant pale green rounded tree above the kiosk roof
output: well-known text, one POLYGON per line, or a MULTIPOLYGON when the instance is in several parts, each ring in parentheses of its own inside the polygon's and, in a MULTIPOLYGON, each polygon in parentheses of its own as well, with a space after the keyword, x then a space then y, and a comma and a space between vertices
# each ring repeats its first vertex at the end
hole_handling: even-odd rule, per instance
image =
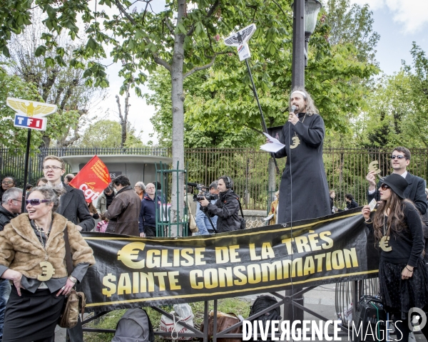
MULTIPOLYGON (((89 125, 78 147, 121 147, 122 128, 121 124, 113 120, 98 120, 89 125)), ((136 136, 135 128, 129 127, 126 135, 125 148, 143 147, 143 142, 136 136)))

